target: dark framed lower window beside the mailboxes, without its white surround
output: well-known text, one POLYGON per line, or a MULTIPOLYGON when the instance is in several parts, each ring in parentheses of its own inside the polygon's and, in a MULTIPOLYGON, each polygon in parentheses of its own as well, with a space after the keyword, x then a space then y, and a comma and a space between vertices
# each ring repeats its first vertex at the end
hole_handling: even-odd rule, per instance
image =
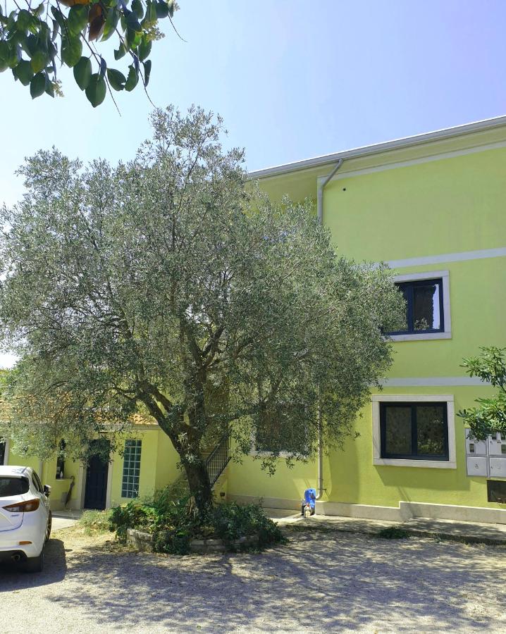
POLYGON ((446 403, 380 403, 381 457, 449 460, 446 403))

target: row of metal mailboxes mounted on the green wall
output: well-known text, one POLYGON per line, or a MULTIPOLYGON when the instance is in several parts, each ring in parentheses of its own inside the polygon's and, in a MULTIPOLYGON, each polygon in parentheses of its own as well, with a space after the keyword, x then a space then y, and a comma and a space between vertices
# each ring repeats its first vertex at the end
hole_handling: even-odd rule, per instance
POLYGON ((469 437, 466 430, 467 475, 506 478, 506 437, 490 434, 486 440, 469 437))

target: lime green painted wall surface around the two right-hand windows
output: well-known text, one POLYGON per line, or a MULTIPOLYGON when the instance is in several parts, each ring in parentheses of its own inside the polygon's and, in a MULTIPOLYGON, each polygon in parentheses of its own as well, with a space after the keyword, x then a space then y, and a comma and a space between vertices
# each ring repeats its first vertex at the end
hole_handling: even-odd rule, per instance
MULTIPOLYGON (((504 141, 496 130, 491 141, 504 141)), ((476 137, 473 137, 476 138, 476 137)), ((446 141, 445 151, 470 147, 472 139, 446 141)), ((506 148, 474 151, 420 162, 422 149, 394 151, 383 157, 344 163, 338 178, 324 194, 323 222, 331 230, 338 251, 356 261, 393 261, 421 256, 506 247, 506 148), (392 166, 398 160, 414 161, 392 166), (378 163, 383 166, 378 169, 378 163), (350 173, 352 168, 365 173, 350 173)), ((261 181, 269 194, 294 199, 316 197, 316 176, 330 168, 261 181), (297 187, 294 183, 297 182, 297 187)), ((464 377, 463 356, 483 345, 506 346, 506 258, 440 262, 409 266, 398 274, 449 271, 452 338, 394 342, 395 359, 390 378, 464 377)), ((385 394, 453 394, 455 412, 474 399, 490 395, 492 388, 388 387, 385 394)), ((375 466, 373 464, 372 405, 357 419, 357 440, 325 458, 326 494, 331 502, 397 506, 400 500, 459 504, 506 505, 487 502, 486 478, 466 474, 464 431, 455 417, 457 469, 375 466)), ((261 472, 247 458, 230 467, 228 492, 298 500, 304 489, 316 486, 316 464, 287 470, 280 462, 276 475, 261 472)))

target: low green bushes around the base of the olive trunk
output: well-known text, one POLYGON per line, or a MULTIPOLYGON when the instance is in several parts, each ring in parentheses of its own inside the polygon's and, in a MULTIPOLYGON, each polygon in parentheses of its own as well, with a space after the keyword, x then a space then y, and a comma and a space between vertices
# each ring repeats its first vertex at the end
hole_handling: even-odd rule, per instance
POLYGON ((125 540, 128 528, 154 533, 155 550, 171 554, 190 552, 190 541, 194 538, 221 538, 230 544, 239 537, 257 535, 260 548, 285 542, 283 533, 258 504, 218 504, 202 517, 189 496, 173 499, 169 487, 157 491, 144 503, 132 500, 116 506, 109 526, 116 530, 120 540, 125 540))

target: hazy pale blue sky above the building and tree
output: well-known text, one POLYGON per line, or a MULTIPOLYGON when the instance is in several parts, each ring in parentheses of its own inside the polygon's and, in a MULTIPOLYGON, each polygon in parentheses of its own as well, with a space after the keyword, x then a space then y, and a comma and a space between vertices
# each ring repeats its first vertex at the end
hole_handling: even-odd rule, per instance
MULTIPOLYGON (((156 106, 221 113, 257 169, 506 113, 504 0, 178 0, 154 43, 156 106)), ((116 62, 124 70, 125 58, 116 62)), ((141 87, 92 108, 63 70, 63 99, 0 74, 0 204, 23 157, 133 156, 149 136, 141 87)), ((1 359, 0 359, 1 363, 1 359)))

